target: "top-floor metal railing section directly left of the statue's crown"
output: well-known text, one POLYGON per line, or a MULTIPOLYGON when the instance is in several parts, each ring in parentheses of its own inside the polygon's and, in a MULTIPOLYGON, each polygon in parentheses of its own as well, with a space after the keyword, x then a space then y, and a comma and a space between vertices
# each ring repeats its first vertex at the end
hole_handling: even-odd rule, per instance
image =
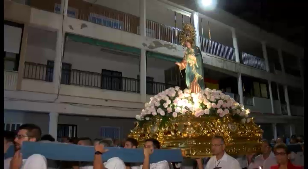
POLYGON ((146 36, 151 38, 180 45, 181 31, 182 30, 172 26, 164 25, 150 20, 146 21, 146 36))

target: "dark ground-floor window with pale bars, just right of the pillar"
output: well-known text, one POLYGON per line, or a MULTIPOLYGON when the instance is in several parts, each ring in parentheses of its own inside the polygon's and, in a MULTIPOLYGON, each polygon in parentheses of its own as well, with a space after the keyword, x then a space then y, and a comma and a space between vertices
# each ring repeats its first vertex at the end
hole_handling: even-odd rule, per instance
POLYGON ((77 138, 77 125, 58 124, 57 141, 61 141, 62 137, 77 138))

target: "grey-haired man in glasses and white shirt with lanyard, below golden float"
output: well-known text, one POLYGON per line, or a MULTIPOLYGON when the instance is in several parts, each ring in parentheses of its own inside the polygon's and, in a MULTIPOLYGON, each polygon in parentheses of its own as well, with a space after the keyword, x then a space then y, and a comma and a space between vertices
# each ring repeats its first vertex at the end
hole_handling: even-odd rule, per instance
POLYGON ((225 148, 225 139, 221 136, 214 136, 211 148, 213 156, 206 164, 206 169, 241 169, 240 163, 228 155, 225 148))

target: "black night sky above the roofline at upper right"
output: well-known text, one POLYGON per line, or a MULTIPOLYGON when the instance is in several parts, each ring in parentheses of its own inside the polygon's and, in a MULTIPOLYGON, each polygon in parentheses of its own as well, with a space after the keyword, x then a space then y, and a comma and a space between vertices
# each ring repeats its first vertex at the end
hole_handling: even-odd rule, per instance
POLYGON ((218 8, 290 42, 304 46, 304 22, 308 20, 304 17, 308 4, 305 1, 218 0, 217 3, 218 8))

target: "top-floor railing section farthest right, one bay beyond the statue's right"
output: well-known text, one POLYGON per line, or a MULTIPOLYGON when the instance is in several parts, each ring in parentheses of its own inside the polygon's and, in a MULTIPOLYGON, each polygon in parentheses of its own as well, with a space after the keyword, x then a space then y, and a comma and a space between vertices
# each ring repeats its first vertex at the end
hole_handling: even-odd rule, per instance
POLYGON ((264 58, 259 58, 245 52, 241 52, 241 55, 243 64, 255 67, 257 69, 266 70, 264 58))

